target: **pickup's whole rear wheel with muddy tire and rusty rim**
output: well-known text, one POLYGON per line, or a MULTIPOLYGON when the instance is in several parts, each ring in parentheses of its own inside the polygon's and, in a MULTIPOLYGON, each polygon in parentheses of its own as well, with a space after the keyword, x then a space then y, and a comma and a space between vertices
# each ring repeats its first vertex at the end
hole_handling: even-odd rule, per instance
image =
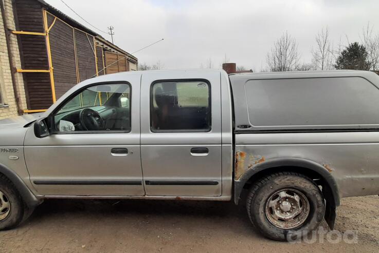
POLYGON ((277 241, 294 241, 315 230, 324 217, 320 188, 295 172, 269 174, 255 182, 246 208, 255 228, 277 241))

